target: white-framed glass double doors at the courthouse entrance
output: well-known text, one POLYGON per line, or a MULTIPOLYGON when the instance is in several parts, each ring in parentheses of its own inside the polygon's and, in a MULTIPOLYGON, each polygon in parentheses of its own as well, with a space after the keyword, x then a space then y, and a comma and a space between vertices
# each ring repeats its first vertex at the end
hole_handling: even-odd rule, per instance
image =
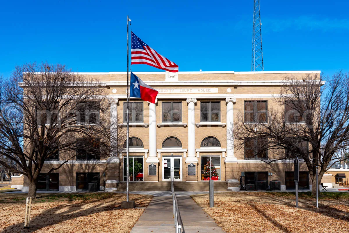
POLYGON ((173 180, 182 180, 182 157, 162 157, 162 180, 171 180, 171 169, 173 169, 173 180))

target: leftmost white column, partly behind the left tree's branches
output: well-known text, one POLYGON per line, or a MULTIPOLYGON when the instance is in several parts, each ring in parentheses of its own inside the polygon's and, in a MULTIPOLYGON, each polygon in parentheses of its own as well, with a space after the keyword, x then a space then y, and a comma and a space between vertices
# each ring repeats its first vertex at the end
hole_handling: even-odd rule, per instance
POLYGON ((111 136, 111 157, 107 159, 108 162, 120 162, 118 152, 114 151, 118 147, 118 107, 117 98, 111 98, 110 100, 110 136, 111 136))

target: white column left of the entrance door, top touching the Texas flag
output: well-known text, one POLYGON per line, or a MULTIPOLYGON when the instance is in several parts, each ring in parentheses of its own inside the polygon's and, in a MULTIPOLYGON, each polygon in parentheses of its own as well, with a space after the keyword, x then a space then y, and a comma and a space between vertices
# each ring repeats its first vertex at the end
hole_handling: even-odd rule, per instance
MULTIPOLYGON (((155 99, 157 103, 157 99, 155 99)), ((149 156, 147 163, 158 163, 156 156, 156 106, 155 103, 149 103, 149 156)))

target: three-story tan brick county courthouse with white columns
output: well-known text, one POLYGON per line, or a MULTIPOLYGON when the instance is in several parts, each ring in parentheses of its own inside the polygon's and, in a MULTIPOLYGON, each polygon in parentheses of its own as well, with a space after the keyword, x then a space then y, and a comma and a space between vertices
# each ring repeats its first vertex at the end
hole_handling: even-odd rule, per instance
MULTIPOLYGON (((245 183, 262 180, 269 184, 278 180, 282 190, 294 189, 293 160, 268 164, 263 160, 272 155, 267 153, 246 158, 245 154, 251 153, 248 145, 237 150, 228 132, 238 111, 255 115, 257 106, 258 111, 280 108, 273 96, 280 94, 283 77, 301 78, 307 73, 320 71, 135 72, 159 93, 155 104, 130 99, 131 186, 138 182, 166 183, 171 180, 173 168, 175 181, 214 179, 222 182, 227 191, 239 189, 242 175, 245 183)), ((119 127, 126 127, 126 72, 80 74, 105 82, 110 94, 110 116, 122 116, 119 127)), ((46 161, 43 172, 63 162, 60 156, 46 161)), ((96 182, 100 190, 116 190, 126 181, 125 165, 125 152, 107 160, 76 156, 59 170, 40 178, 38 188, 87 190, 88 183, 96 182)), ((301 169, 299 188, 309 189, 309 174, 304 164, 301 169)), ((24 181, 25 190, 28 179, 24 181)))

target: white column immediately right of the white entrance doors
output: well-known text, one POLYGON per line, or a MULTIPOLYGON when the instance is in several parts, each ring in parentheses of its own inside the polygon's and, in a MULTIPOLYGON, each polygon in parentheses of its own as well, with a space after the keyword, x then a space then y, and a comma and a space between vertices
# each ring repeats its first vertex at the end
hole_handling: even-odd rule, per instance
POLYGON ((186 163, 198 162, 195 156, 195 103, 196 99, 187 99, 188 103, 188 156, 186 163))

